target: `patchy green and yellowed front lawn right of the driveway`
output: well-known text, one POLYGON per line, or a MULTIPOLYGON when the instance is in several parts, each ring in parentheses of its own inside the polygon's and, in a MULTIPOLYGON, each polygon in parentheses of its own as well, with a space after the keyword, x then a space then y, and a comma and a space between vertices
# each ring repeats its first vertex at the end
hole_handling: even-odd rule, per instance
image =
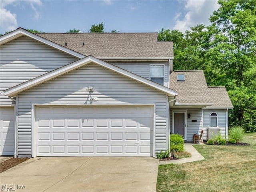
POLYGON ((256 133, 250 146, 194 145, 204 160, 160 165, 157 192, 256 192, 256 133))

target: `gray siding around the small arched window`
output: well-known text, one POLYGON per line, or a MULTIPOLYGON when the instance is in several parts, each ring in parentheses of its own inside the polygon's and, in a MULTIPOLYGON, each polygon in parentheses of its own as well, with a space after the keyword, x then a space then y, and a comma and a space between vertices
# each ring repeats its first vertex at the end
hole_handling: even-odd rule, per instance
POLYGON ((210 126, 210 114, 216 112, 218 114, 218 128, 222 138, 226 138, 226 110, 204 110, 204 140, 207 136, 207 128, 210 126))

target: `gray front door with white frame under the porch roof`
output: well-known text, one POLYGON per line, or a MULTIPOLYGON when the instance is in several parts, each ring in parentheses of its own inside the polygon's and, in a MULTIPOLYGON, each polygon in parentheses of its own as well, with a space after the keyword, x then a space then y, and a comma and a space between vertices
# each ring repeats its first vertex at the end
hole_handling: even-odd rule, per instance
POLYGON ((186 112, 173 112, 173 116, 174 134, 180 134, 186 140, 186 112))

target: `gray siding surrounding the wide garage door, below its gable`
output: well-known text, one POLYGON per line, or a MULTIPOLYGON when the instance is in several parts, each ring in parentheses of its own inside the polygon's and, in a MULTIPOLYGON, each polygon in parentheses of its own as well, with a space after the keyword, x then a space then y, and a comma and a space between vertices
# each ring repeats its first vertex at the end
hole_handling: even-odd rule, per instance
MULTIPOLYGON (((86 104, 94 86, 96 104, 156 104, 156 151, 166 150, 166 94, 96 64, 83 66, 18 95, 18 150, 31 153, 32 104, 86 104)), ((92 105, 94 102, 92 103, 92 105)))

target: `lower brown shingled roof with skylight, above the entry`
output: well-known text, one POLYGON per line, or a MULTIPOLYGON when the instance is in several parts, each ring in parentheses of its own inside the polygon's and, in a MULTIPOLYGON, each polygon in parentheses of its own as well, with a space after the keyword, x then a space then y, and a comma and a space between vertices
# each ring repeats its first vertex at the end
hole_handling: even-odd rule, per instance
POLYGON ((211 104, 211 107, 232 107, 225 87, 208 87, 203 71, 173 71, 170 88, 176 90, 178 104, 211 104), (185 81, 177 81, 184 74, 185 81))

